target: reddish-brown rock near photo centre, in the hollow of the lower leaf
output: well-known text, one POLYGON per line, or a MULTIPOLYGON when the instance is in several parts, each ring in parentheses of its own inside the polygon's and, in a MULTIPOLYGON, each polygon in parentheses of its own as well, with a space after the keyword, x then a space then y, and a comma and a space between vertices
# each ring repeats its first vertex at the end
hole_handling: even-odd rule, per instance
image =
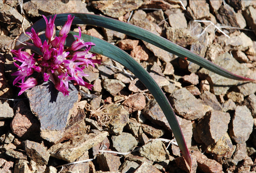
POLYGON ((129 113, 132 113, 143 109, 146 106, 146 100, 142 93, 138 93, 126 99, 122 105, 129 113))

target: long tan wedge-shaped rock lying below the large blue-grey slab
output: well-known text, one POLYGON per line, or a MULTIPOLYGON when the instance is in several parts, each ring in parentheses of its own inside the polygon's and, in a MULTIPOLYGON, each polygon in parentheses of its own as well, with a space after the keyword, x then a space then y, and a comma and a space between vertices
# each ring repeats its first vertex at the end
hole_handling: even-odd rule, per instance
POLYGON ((67 162, 74 162, 87 150, 103 141, 107 134, 108 133, 106 131, 103 131, 74 136, 67 142, 54 144, 48 149, 48 152, 52 157, 65 160, 67 162))

